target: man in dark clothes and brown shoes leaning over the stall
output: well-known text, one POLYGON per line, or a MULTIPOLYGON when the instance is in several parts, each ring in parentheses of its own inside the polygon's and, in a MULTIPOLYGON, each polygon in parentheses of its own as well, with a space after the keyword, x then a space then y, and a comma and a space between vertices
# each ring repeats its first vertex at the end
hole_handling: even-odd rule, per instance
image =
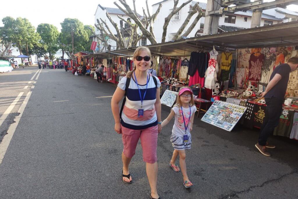
POLYGON ((267 139, 273 134, 274 127, 278 125, 280 113, 283 109, 283 101, 287 90, 289 74, 298 69, 298 57, 292 57, 287 64, 280 64, 271 74, 270 81, 261 97, 265 97, 266 113, 260 130, 257 149, 266 156, 271 154, 266 148, 275 148, 269 145, 267 139))

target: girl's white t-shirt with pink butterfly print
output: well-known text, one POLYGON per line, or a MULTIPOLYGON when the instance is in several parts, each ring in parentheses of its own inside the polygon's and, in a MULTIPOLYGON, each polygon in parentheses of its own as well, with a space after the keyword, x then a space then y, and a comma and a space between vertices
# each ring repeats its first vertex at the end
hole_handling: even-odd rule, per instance
POLYGON ((190 118, 193 114, 195 114, 197 108, 195 106, 183 108, 181 110, 181 107, 173 107, 172 110, 175 112, 175 123, 172 130, 172 135, 183 137, 185 135, 185 126, 184 121, 182 117, 182 110, 185 120, 185 125, 188 124, 186 134, 190 134, 190 118), (191 113, 190 113, 191 112, 191 113))

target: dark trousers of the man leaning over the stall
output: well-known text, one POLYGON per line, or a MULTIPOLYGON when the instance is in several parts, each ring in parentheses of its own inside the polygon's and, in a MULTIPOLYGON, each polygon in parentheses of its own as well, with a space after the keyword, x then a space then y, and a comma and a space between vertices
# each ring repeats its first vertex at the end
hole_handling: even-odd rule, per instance
POLYGON ((265 98, 266 111, 263 125, 260 130, 259 144, 265 146, 267 139, 270 135, 273 135, 273 130, 277 127, 280 113, 283 110, 283 99, 276 97, 265 98))

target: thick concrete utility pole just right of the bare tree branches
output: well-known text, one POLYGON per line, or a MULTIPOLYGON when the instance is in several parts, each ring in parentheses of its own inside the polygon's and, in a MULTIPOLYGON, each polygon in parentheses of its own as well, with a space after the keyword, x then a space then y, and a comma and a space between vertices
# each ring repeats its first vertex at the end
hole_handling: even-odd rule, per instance
POLYGON ((210 15, 208 12, 221 8, 221 0, 207 0, 203 35, 218 33, 219 15, 210 15))

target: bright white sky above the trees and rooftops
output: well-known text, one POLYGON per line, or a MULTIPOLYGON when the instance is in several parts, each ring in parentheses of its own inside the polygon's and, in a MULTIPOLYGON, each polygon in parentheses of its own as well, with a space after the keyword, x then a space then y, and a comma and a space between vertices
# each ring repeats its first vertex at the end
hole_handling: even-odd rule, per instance
MULTIPOLYGON (((33 26, 37 27, 41 23, 49 23, 58 27, 60 32, 60 23, 64 18, 77 18, 83 22, 84 25, 94 25, 94 13, 97 5, 101 4, 103 7, 116 7, 114 1, 117 0, 86 0, 86 1, 70 1, 70 0, 51 0, 51 1, 32 1, 32 0, 14 0, 2 1, 0 19, 6 16, 13 18, 22 17, 27 18, 33 26)), ((126 0, 131 7, 133 7, 132 0, 126 0)), ((162 0, 148 0, 150 12, 152 12, 152 4, 158 3, 162 0)), ((207 2, 207 0, 197 0, 207 2)), ((117 1, 120 5, 119 1, 117 1)), ((136 10, 142 14, 142 7, 146 7, 145 0, 136 0, 136 10)), ((291 5, 287 7, 289 10, 298 12, 298 6, 291 5)), ((0 26, 3 26, 0 21, 0 26)))

